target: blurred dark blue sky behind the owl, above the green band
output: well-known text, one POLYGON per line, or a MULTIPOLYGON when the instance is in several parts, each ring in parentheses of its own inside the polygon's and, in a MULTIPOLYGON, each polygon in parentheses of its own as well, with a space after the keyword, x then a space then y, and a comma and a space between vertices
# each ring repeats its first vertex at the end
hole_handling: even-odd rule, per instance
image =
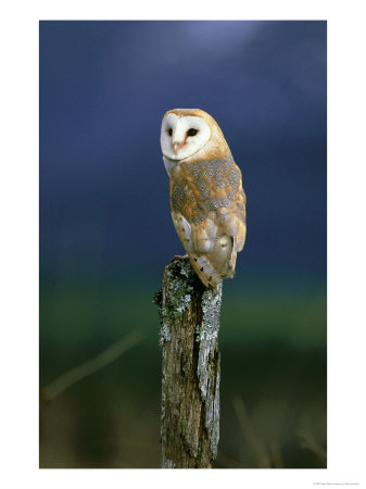
POLYGON ((159 141, 173 108, 212 114, 242 171, 238 280, 324 280, 326 23, 239 21, 40 23, 41 277, 161 274, 182 252, 159 141))

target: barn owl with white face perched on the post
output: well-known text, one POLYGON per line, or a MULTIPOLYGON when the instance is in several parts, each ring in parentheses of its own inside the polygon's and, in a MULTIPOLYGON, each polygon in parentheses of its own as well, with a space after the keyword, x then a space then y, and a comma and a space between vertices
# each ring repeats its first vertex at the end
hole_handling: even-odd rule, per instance
POLYGON ((173 223, 206 287, 232 277, 247 234, 241 172, 216 121, 200 109, 165 113, 161 147, 173 223))

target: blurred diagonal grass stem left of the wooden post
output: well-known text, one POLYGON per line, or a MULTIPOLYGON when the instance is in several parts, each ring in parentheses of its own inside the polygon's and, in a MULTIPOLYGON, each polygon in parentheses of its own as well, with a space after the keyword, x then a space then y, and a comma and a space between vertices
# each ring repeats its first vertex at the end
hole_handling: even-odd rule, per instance
POLYGON ((93 359, 88 360, 87 362, 84 362, 80 365, 77 365, 76 367, 61 375, 59 378, 53 380, 41 390, 41 403, 46 404, 47 402, 52 401, 74 384, 78 383, 85 377, 88 377, 91 374, 94 374, 110 363, 114 362, 123 353, 139 343, 142 338, 143 335, 140 331, 132 331, 111 344, 93 359))

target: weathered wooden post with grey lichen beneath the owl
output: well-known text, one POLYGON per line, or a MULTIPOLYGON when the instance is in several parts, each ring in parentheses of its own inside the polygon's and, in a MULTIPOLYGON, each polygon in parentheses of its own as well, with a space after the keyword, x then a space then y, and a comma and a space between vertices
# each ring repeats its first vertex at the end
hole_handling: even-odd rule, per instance
POLYGON ((184 258, 165 267, 155 294, 163 349, 163 468, 211 468, 217 455, 222 287, 206 289, 184 258))

